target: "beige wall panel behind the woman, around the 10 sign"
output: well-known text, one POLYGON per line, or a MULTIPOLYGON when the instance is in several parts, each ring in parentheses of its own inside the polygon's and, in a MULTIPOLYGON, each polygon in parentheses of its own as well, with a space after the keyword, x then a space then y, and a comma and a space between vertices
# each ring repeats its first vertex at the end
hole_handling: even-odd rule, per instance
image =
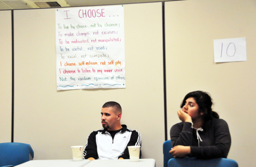
POLYGON ((230 127, 228 158, 255 166, 255 0, 175 1, 165 9, 168 129, 179 122, 177 110, 188 92, 209 92, 213 109, 230 127), (225 38, 246 38, 247 61, 214 63, 213 40, 225 38))

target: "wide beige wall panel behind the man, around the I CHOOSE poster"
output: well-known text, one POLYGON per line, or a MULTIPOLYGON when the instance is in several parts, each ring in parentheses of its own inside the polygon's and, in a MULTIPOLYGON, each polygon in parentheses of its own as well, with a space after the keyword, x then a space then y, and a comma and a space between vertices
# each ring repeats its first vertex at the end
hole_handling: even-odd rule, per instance
POLYGON ((102 128, 102 105, 114 100, 121 123, 141 133, 142 158, 163 166, 161 3, 124 5, 124 89, 57 91, 55 9, 15 10, 14 22, 14 142, 30 143, 35 159, 71 159, 70 146, 102 128))

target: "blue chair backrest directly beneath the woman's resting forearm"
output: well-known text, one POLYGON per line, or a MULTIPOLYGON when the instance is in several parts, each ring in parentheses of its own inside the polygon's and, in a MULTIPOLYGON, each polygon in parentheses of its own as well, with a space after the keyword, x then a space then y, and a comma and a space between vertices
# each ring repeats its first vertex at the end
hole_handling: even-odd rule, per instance
POLYGON ((185 157, 173 158, 168 161, 168 167, 238 167, 238 163, 232 159, 196 159, 185 157))

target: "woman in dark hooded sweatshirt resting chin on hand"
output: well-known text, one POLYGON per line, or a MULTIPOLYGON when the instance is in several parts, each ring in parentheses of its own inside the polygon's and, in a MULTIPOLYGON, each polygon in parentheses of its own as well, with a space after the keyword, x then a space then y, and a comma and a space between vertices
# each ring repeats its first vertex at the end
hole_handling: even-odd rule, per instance
POLYGON ((212 111, 212 98, 207 92, 188 93, 177 113, 182 122, 170 131, 173 148, 169 153, 174 158, 227 158, 231 145, 229 127, 212 111))

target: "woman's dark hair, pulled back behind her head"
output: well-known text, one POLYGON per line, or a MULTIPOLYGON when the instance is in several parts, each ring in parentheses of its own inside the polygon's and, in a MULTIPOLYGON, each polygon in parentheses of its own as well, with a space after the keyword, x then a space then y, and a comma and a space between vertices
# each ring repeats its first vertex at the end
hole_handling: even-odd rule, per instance
POLYGON ((210 120, 210 119, 212 119, 212 117, 219 118, 219 115, 215 111, 212 111, 211 96, 209 95, 209 93, 203 92, 203 91, 194 91, 194 92, 188 93, 184 97, 184 99, 181 103, 181 109, 185 105, 186 100, 190 97, 193 97, 194 100, 196 101, 196 103, 198 104, 199 113, 201 113, 201 112, 204 113, 203 114, 204 121, 210 120))

